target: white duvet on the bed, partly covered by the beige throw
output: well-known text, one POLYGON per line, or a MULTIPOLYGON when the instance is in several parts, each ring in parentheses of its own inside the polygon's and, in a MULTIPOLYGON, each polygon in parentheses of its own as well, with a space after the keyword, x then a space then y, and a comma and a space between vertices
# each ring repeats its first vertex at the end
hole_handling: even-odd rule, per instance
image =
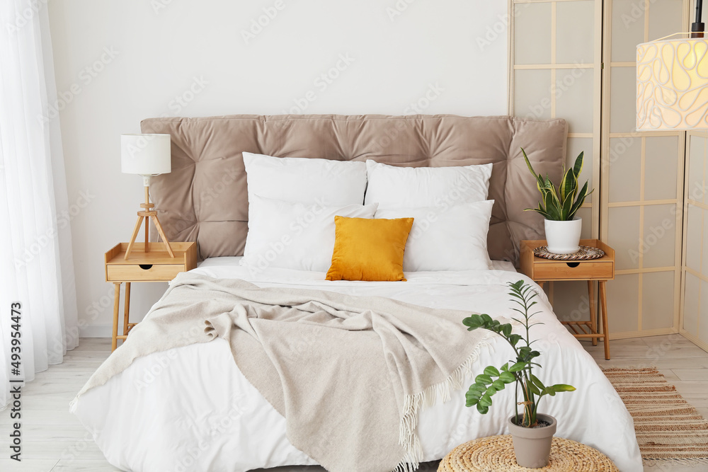
MULTIPOLYGON (((240 258, 206 260, 193 272, 240 278, 262 287, 307 287, 353 295, 382 296, 435 308, 459 309, 510 318, 507 282, 525 276, 510 264, 501 270, 407 272, 408 282, 327 282, 324 273, 266 269, 251 275, 240 258)), ((532 283, 532 282, 531 282, 532 283)), ((532 328, 540 339, 544 384, 571 384, 577 391, 545 397, 542 413, 558 420, 556 436, 574 439, 603 451, 622 472, 642 471, 632 418, 595 361, 556 320, 547 299, 532 328)), ((440 337, 442 333, 430 333, 440 337)), ((316 346, 303 343, 303 350, 316 346)), ((510 359, 498 338, 481 350, 473 373, 510 359)), ((470 439, 506 434, 513 413, 513 388, 497 393, 489 414, 465 408, 464 391, 447 403, 421 413, 418 435, 424 460, 441 459, 470 439)), ((365 399, 352 398, 366 408, 365 399)), ((239 372, 225 340, 180 347, 137 359, 103 386, 72 405, 106 459, 125 471, 248 471, 285 465, 315 464, 292 447, 283 418, 239 372)), ((313 415, 317 412, 313 411, 313 415)), ((366 434, 362 431, 361 434, 366 434)))

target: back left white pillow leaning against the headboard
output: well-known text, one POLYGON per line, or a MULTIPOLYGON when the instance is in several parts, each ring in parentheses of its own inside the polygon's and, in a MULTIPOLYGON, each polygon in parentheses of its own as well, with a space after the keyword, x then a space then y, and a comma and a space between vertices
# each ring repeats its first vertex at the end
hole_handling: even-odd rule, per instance
POLYGON ((271 157, 244 152, 244 165, 249 202, 252 195, 309 204, 324 199, 327 206, 364 202, 366 164, 360 161, 271 157))

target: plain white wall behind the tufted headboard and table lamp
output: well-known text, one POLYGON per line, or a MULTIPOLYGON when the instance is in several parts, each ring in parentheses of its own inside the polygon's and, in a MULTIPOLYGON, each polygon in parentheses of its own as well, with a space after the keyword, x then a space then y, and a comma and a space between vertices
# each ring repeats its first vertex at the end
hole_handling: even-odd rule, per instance
MULTIPOLYGON (((130 238, 142 200, 141 178, 120 173, 119 134, 139 132, 140 120, 507 113, 506 0, 52 0, 49 8, 87 336, 110 335, 103 253, 130 238)), ((134 284, 132 318, 165 288, 134 284)))

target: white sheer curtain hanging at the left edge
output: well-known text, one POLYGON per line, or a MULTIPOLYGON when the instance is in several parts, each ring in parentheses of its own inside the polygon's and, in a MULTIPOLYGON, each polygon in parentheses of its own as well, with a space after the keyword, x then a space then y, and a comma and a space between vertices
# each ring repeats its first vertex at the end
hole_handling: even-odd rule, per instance
POLYGON ((0 0, 0 409, 10 379, 62 362, 79 343, 64 156, 47 6, 0 0), (21 374, 11 304, 21 304, 21 374))

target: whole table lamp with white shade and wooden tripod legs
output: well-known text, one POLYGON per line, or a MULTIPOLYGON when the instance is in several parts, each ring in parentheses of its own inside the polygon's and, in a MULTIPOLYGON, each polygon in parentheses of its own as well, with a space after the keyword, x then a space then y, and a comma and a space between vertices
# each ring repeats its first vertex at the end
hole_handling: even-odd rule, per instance
POLYGON ((150 251, 148 242, 149 220, 152 219, 157 232, 162 241, 165 243, 165 248, 170 257, 174 257, 174 253, 167 241, 160 220, 157 219, 157 212, 153 209, 154 204, 150 203, 150 178, 153 175, 169 173, 172 170, 171 151, 170 151, 170 135, 169 134, 121 134, 120 135, 120 170, 123 173, 135 173, 142 175, 142 181, 145 185, 145 202, 140 204, 143 209, 137 212, 137 223, 130 237, 130 243, 125 250, 125 260, 128 260, 130 251, 135 244, 135 238, 143 220, 145 221, 145 252, 150 251))

